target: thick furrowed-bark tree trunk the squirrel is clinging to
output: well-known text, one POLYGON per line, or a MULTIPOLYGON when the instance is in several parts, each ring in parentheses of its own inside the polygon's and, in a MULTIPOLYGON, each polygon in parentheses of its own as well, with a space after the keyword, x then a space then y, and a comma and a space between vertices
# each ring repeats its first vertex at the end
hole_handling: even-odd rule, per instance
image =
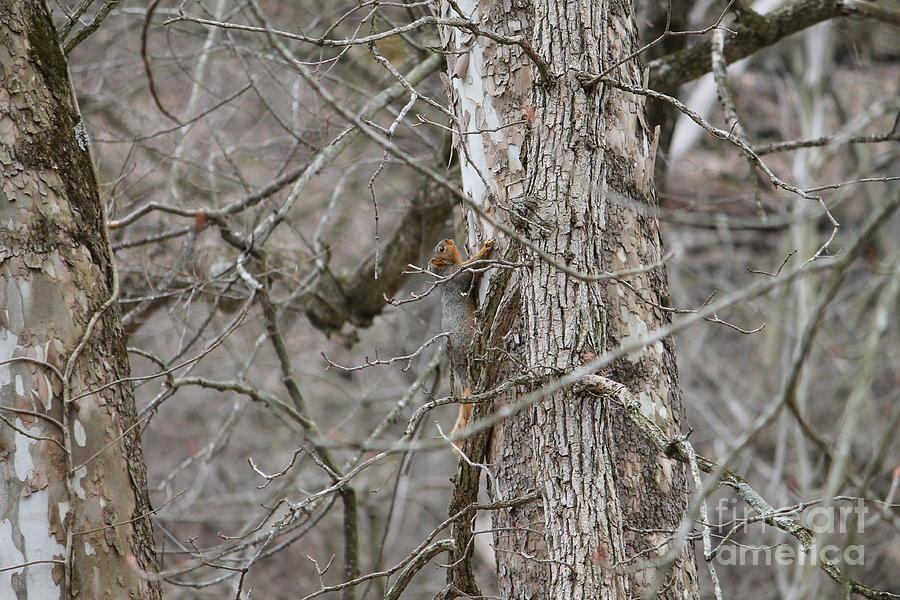
MULTIPOLYGON (((652 216, 655 144, 643 101, 603 85, 586 88, 579 77, 600 73, 638 47, 631 3, 468 0, 445 2, 441 10, 507 38, 519 36, 545 63, 539 68, 521 44, 445 32, 446 49, 456 52, 449 55, 454 114, 466 132, 458 145, 463 186, 515 232, 506 235, 469 211, 470 250, 479 239, 495 237, 495 256, 505 252, 532 265, 486 277, 479 352, 487 360, 476 365, 478 387, 522 374, 552 381, 667 322, 653 306, 667 304, 663 269, 625 277, 629 288, 615 279, 579 279, 534 250, 594 275, 661 258, 652 216), (484 132, 471 133, 476 130, 484 132)), ((610 76, 642 84, 634 60, 610 76)), ((626 385, 642 412, 672 435, 687 429, 673 352, 671 340, 650 344, 602 371, 626 385)), ((539 387, 519 387, 494 409, 539 387)), ((488 412, 479 408, 476 416, 488 412)), ((650 591, 657 569, 645 563, 669 549, 667 532, 678 529, 686 510, 686 473, 659 456, 615 405, 569 387, 504 419, 489 435, 475 436, 464 449, 491 465, 493 500, 538 496, 492 513, 501 597, 625 599, 650 591)), ((460 465, 451 513, 474 501, 480 472, 460 465)), ((479 592, 464 560, 469 525, 455 530, 458 550, 445 597, 479 592)), ((690 547, 662 575, 659 597, 698 597, 690 547)))

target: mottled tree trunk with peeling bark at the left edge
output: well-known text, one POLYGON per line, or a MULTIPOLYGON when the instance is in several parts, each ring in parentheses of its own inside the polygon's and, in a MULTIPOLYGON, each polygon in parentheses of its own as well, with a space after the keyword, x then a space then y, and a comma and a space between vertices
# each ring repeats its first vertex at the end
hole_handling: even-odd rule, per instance
POLYGON ((0 2, 0 598, 159 598, 89 141, 44 3, 0 2))

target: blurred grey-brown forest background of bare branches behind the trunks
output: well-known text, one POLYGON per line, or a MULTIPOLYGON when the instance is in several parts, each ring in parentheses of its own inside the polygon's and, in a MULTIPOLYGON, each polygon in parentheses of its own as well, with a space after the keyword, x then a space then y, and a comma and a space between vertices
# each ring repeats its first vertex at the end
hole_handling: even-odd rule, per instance
MULTIPOLYGON (((361 366, 413 354, 440 333, 436 295, 399 305, 383 295, 409 299, 428 288, 427 276, 401 277, 400 271, 407 263, 423 266, 442 237, 464 240, 461 211, 445 192, 362 137, 331 152, 347 122, 286 65, 264 32, 244 27, 259 26, 247 3, 84 4, 81 15, 74 0, 51 3, 51 9, 61 29, 77 20, 70 43, 101 7, 111 9, 96 31, 67 49, 108 210, 132 367, 136 376, 171 370, 136 384, 151 500, 159 508, 165 595, 229 597, 238 577, 221 567, 258 553, 245 592, 302 598, 322 583, 343 580, 337 566, 326 570, 333 557, 337 564, 342 557, 340 502, 326 497, 290 527, 277 533, 269 527, 282 514, 279 502, 297 502, 330 480, 302 451, 296 424, 272 400, 285 402, 287 395, 263 316, 247 303, 243 266, 236 263, 240 248, 253 245, 250 260, 264 264, 272 281, 281 333, 311 416, 333 442, 337 461, 353 465, 373 456, 379 443, 383 448, 399 439, 417 407, 446 395, 442 344, 410 361, 360 370, 326 368, 322 353, 336 364, 361 366), (267 219, 276 215, 278 226, 270 226, 267 219), (395 256, 392 248, 403 252, 395 256), (359 445, 366 440, 377 443, 363 452, 359 445), (262 476, 282 471, 268 484, 262 476), (265 544, 248 543, 266 536, 265 544)), ((770 0, 757 9, 766 13, 782 4, 770 0)), ((412 22, 430 14, 428 5, 266 0, 260 7, 273 28, 340 40, 412 22)), ((671 8, 673 30, 701 30, 717 22, 725 3, 676 1, 671 8)), ((638 2, 636 10, 642 40, 649 42, 665 28, 666 7, 638 2)), ((739 127, 760 154, 784 140, 836 136, 829 145, 768 148, 765 154, 776 173, 802 189, 840 184, 821 192, 841 224, 829 253, 898 188, 891 179, 900 175, 898 31, 896 23, 833 19, 729 68, 739 127), (886 141, 846 143, 865 135, 886 141), (857 182, 863 179, 869 181, 857 182)), ((647 64, 701 37, 668 37, 641 60, 647 64)), ((407 106, 410 95, 400 88, 367 118, 390 129, 393 141, 417 159, 458 177, 447 118, 431 103, 447 103, 445 60, 426 64, 439 46, 433 27, 372 44, 281 41, 354 112, 377 105, 379 94, 397 86, 391 69, 409 74, 420 68, 414 105, 407 106)), ((671 92, 717 126, 734 129, 711 75, 671 92)), ((722 297, 768 277, 760 272, 775 273, 785 262, 797 266, 832 235, 819 204, 774 193, 733 146, 671 107, 650 104, 648 120, 661 125, 656 183, 660 227, 672 253, 672 306, 697 309, 713 294, 722 297)), ((847 467, 868 482, 870 503, 896 502, 900 479, 894 472, 900 465, 898 234, 895 216, 851 266, 797 383, 808 425, 826 440, 849 439, 847 467)), ((827 276, 798 279, 717 315, 724 324, 705 322, 677 335, 690 439, 698 452, 721 457, 778 393, 826 282, 827 276)), ((436 422, 449 431, 455 410, 443 406, 423 415, 414 435, 438 437, 436 422)), ((449 447, 409 452, 354 478, 363 573, 396 564, 446 518, 456 461, 449 447)), ((791 507, 823 497, 831 465, 785 413, 731 467, 770 504, 791 507)), ((730 519, 747 516, 741 508, 731 513, 732 498, 723 488, 712 499, 715 543, 731 528, 730 519)), ((852 499, 844 504, 856 506, 852 499)), ((891 510, 893 522, 869 510, 863 531, 849 527, 821 541, 862 545, 864 564, 849 567, 850 573, 896 594, 900 536, 891 510)), ((477 529, 489 528, 489 518, 480 518, 477 529)), ((788 541, 751 523, 728 544, 788 541)), ((489 534, 477 538, 476 564, 490 594, 489 534)), ((720 566, 719 577, 730 598, 839 595, 819 571, 797 564, 720 566)), ((443 578, 436 564, 426 567, 404 597, 430 598, 443 578)), ((364 584, 359 597, 379 597, 381 586, 379 579, 364 584)), ((712 594, 708 582, 704 594, 712 594)))

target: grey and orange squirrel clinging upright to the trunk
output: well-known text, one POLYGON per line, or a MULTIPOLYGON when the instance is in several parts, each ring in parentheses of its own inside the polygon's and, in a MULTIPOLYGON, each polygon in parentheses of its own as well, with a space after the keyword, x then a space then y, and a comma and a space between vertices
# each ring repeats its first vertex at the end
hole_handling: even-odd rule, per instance
MULTIPOLYGON (((446 239, 435 246, 434 256, 428 264, 435 274, 450 277, 466 265, 487 258, 493 248, 494 240, 487 240, 481 250, 463 262, 456 243, 452 239, 446 239)), ((455 396, 472 395, 472 384, 469 381, 469 346, 476 331, 477 282, 477 273, 465 271, 440 284, 441 329, 450 333, 450 337, 447 338, 447 357, 450 362, 450 389, 455 396)), ((468 426, 471 417, 472 405, 461 404, 452 433, 468 426)))

